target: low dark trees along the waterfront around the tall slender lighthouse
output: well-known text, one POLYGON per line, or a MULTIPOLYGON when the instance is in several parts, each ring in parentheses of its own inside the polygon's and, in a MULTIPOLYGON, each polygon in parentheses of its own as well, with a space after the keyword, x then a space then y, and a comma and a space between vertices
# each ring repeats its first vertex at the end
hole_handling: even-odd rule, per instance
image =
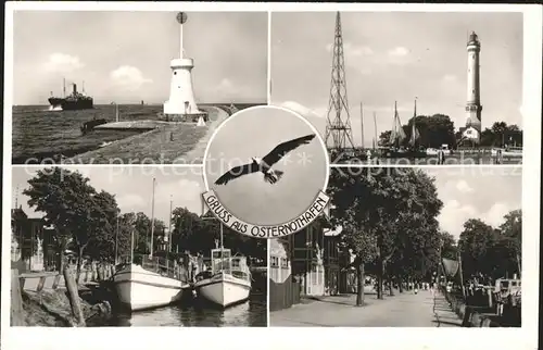
MULTIPOLYGON (((440 148, 446 143, 451 148, 456 148, 462 140, 462 132, 455 132, 454 123, 447 115, 417 115, 408 120, 407 124, 403 125, 403 130, 407 136, 402 146, 408 146, 413 133, 413 123, 419 133, 417 145, 425 148, 440 148)), ((391 146, 390 137, 392 130, 386 130, 379 136, 378 145, 381 147, 391 146)), ((482 147, 500 147, 505 145, 522 145, 522 132, 515 125, 507 125, 505 122, 496 122, 490 128, 481 132, 480 146, 482 147)))

